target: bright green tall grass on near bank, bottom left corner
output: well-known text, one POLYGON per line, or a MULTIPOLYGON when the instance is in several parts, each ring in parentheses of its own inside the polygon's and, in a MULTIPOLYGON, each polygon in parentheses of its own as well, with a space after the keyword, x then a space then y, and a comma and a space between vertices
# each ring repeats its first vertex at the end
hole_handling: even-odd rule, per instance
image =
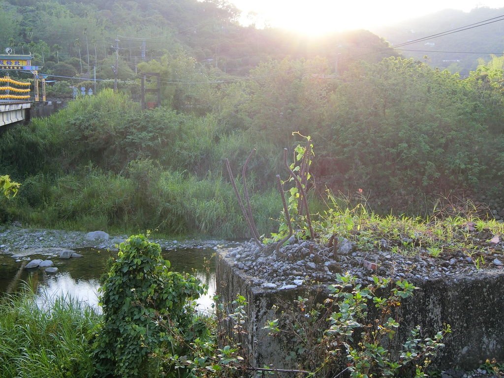
POLYGON ((0 301, 0 376, 30 378, 90 377, 91 332, 100 317, 70 297, 37 304, 26 285, 0 301))

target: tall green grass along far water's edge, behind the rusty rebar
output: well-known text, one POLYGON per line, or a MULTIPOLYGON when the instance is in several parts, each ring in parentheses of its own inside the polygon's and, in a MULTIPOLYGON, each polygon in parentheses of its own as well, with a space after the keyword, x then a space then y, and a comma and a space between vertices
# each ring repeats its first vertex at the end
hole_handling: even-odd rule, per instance
MULTIPOLYGON (((167 235, 248 237, 249 231, 230 182, 221 175, 198 178, 162 171, 148 160, 131 164, 123 175, 88 167, 48 182, 32 176, 11 201, 0 199, 3 217, 24 223, 80 230, 157 230, 167 235), (26 191, 23 191, 26 189, 26 191)), ((261 233, 278 228, 282 209, 275 190, 251 196, 261 233)))

